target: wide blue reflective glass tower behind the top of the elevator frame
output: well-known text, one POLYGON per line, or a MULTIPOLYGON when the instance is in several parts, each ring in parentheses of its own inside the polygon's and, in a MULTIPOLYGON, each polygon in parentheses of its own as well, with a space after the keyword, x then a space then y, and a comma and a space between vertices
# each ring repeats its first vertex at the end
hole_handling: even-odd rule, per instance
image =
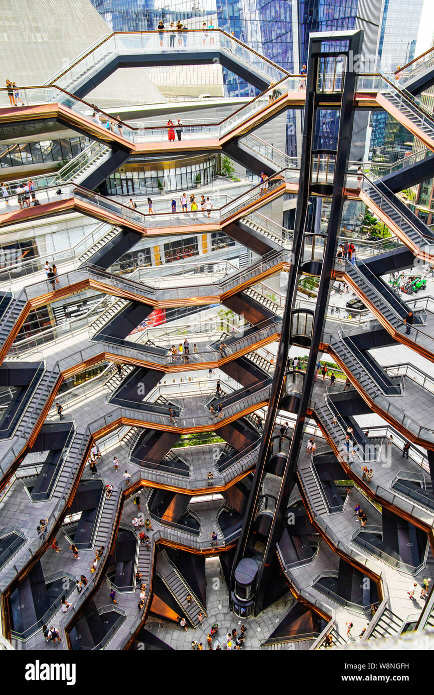
MULTIPOLYGON (((415 2, 419 0, 414 0, 415 2)), ((214 26, 298 73, 307 60, 312 31, 362 28, 364 52, 376 54, 383 0, 193 0, 168 6, 166 0, 91 0, 113 31, 149 31, 159 20, 166 26, 181 20, 188 28, 214 26)), ((225 95, 254 96, 255 88, 222 69, 225 95)), ((364 155, 368 115, 357 114, 353 138, 354 159, 364 155)), ((296 113, 287 114, 287 154, 296 156, 296 113)))

